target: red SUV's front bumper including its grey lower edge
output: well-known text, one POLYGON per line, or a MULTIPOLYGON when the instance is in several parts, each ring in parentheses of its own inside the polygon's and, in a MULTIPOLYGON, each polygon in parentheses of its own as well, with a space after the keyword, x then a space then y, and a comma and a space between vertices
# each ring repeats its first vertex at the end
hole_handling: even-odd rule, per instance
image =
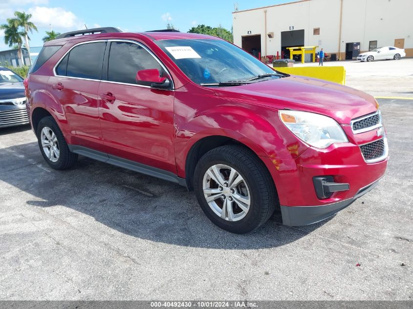
MULTIPOLYGON (((350 126, 344 129, 351 130, 350 126)), ((361 146, 385 139, 378 137, 377 131, 356 137, 348 132, 348 143, 332 144, 326 149, 309 147, 295 159, 261 157, 277 188, 283 224, 300 226, 324 220, 376 186, 386 171, 387 152, 381 161, 370 163, 364 159, 361 146), (331 192, 322 196, 314 179, 323 177, 330 178, 340 190, 327 190, 331 192)))

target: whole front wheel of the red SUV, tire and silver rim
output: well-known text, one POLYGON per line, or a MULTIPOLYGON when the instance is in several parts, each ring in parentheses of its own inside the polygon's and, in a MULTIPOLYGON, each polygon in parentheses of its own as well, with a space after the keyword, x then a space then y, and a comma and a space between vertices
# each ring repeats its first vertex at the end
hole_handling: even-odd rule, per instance
POLYGON ((243 234, 263 225, 277 206, 274 182, 265 165, 248 149, 217 147, 195 169, 196 198, 218 227, 243 234))

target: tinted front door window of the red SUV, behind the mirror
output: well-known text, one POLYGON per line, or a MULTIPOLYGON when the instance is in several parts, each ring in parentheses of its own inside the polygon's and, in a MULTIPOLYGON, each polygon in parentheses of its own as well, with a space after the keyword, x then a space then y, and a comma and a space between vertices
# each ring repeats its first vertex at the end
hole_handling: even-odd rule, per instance
POLYGON ((110 44, 109 81, 136 84, 136 73, 145 69, 158 69, 161 76, 166 76, 159 62, 142 46, 130 42, 110 44))

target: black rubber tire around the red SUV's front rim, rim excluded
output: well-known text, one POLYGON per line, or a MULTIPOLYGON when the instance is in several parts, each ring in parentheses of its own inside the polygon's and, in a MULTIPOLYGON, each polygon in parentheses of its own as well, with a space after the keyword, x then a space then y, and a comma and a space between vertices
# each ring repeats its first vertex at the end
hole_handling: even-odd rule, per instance
POLYGON ((243 234, 261 227, 278 206, 274 181, 262 161, 249 149, 238 145, 225 145, 208 151, 195 168, 194 189, 205 215, 218 227, 232 233, 243 234), (208 205, 203 193, 203 178, 213 165, 223 164, 235 168, 250 191, 250 208, 239 221, 219 217, 208 205))

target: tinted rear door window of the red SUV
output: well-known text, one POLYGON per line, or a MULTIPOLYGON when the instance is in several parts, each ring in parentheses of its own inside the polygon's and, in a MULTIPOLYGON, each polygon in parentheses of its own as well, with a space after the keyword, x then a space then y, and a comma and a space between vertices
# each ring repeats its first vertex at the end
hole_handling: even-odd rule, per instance
MULTIPOLYGON (((73 48, 68 54, 65 75, 101 80, 105 47, 106 42, 95 42, 82 44, 73 48)), ((65 59, 63 60, 65 61, 65 59)), ((61 63, 59 63, 59 66, 60 64, 61 63)), ((61 68, 61 71, 64 71, 64 66, 61 68)))

